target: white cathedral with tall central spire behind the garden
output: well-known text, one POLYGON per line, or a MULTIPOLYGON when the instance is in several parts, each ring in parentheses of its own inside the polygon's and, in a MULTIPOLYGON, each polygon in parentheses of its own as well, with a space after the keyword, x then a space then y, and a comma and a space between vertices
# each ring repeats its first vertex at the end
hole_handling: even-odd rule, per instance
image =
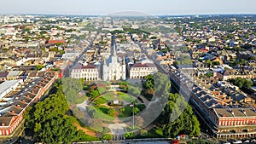
POLYGON ((121 63, 119 63, 117 52, 116 52, 116 43, 112 43, 112 55, 108 60, 103 60, 102 67, 102 80, 104 81, 113 81, 113 80, 125 80, 126 79, 126 65, 125 58, 121 63))

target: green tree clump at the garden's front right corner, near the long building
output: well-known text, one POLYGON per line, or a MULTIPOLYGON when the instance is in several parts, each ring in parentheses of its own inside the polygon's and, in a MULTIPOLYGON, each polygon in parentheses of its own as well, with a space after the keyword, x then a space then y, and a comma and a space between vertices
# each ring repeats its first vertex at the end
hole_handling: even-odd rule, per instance
POLYGON ((164 111, 160 116, 160 124, 166 137, 177 135, 196 136, 200 134, 200 124, 183 96, 170 94, 164 111))

